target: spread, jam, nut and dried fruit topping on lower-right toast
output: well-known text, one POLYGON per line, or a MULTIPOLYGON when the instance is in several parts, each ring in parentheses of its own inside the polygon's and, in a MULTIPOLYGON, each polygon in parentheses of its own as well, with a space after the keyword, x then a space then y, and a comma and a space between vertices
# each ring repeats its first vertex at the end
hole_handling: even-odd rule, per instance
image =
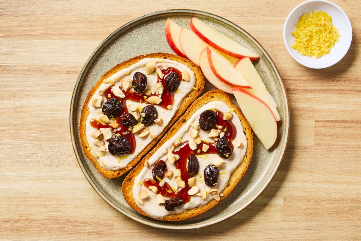
MULTIPOLYGON (((164 162, 165 165, 162 167, 162 172, 165 175, 162 177, 158 175, 149 176, 147 174, 149 171, 144 168, 135 177, 134 182, 143 181, 144 186, 138 188, 134 186, 134 195, 143 188, 149 189, 150 186, 157 186, 156 195, 162 195, 165 199, 163 211, 161 205, 157 208, 142 206, 142 210, 148 215, 156 218, 162 217, 170 213, 174 214, 173 211, 179 213, 192 207, 203 206, 213 199, 221 200, 222 195, 220 193, 225 188, 232 171, 242 161, 247 147, 245 145, 234 150, 234 146, 238 145, 241 140, 242 143, 247 143, 247 141, 239 118, 235 118, 236 115, 231 118, 232 121, 228 117, 224 118, 224 113, 229 110, 229 107, 219 105, 219 103, 211 102, 199 109, 196 112, 198 113, 196 117, 196 114, 193 114, 188 120, 188 124, 184 124, 177 133, 173 134, 173 137, 151 156, 149 165, 153 168, 157 167, 158 162, 168 160, 168 162, 164 162), (213 109, 210 110, 209 106, 212 106, 213 109), (213 124, 207 125, 212 128, 206 131, 202 128, 198 129, 204 124, 199 119, 200 114, 205 111, 206 113, 211 112, 208 115, 211 120, 205 118, 206 121, 213 122, 213 124), (214 120, 212 113, 216 116, 214 120), (240 131, 237 131, 238 129, 240 131), (199 138, 197 143, 193 138, 195 130, 198 132, 196 138, 199 138), (209 135, 211 132, 212 134, 209 135), (176 144, 179 136, 182 136, 183 141, 176 144), (217 141, 214 137, 218 137, 217 141), (161 150, 164 152, 161 153, 161 150), (179 156, 178 160, 174 160, 173 156, 175 155, 179 156), (166 178, 163 179, 164 177, 166 178)), ((156 169, 160 168, 157 167, 156 169)), ((161 176, 161 174, 159 175, 161 176)))

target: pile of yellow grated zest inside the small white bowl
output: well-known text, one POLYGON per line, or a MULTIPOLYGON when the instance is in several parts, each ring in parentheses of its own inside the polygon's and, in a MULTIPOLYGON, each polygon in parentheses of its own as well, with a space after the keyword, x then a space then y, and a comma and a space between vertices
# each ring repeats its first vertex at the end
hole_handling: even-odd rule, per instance
POLYGON ((295 43, 291 46, 298 53, 316 59, 330 53, 338 43, 340 34, 332 24, 332 17, 325 11, 304 13, 296 24, 295 43))

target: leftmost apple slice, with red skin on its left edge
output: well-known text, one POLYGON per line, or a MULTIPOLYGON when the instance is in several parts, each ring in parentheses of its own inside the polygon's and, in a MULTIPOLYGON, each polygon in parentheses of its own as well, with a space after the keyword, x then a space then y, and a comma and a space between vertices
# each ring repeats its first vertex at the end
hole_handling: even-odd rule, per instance
POLYGON ((179 43, 179 34, 181 33, 182 27, 177 23, 173 22, 170 18, 165 23, 165 38, 169 44, 169 47, 175 52, 175 54, 186 58, 187 56, 183 53, 181 44, 179 43))

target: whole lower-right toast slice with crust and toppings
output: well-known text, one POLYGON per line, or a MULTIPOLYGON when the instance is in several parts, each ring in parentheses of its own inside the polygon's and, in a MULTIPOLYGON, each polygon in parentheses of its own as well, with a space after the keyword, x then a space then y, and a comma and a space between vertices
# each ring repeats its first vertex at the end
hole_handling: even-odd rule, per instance
POLYGON ((192 218, 216 206, 231 193, 244 176, 252 153, 253 133, 242 112, 225 92, 209 91, 188 108, 126 176, 123 196, 135 211, 153 219, 192 218), (212 130, 203 130, 203 122, 199 122, 204 111, 217 115, 212 130), (231 143, 231 153, 227 152, 224 138, 231 143), (221 151, 218 152, 217 146, 221 151), (197 161, 194 156, 190 158, 192 154, 197 161), (217 171, 218 175, 214 175, 217 171), (210 177, 212 175, 218 179, 210 177))

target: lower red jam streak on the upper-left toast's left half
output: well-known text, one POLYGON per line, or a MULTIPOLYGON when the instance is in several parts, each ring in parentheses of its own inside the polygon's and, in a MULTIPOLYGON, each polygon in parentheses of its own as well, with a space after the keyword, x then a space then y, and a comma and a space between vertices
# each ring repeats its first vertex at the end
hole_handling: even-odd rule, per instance
POLYGON ((119 124, 118 128, 114 128, 105 123, 102 124, 97 120, 90 120, 90 125, 97 130, 99 130, 100 128, 110 128, 112 130, 112 132, 115 133, 115 135, 120 134, 123 137, 127 138, 127 140, 130 143, 130 146, 131 146, 129 153, 133 154, 135 151, 135 147, 136 147, 134 134, 132 133, 131 130, 129 130, 129 127, 122 125, 120 122, 120 116, 124 113, 126 113, 126 114, 129 113, 128 109, 126 107, 126 104, 125 104, 125 100, 122 100, 122 106, 123 106, 122 111, 115 117, 116 122, 119 124))

